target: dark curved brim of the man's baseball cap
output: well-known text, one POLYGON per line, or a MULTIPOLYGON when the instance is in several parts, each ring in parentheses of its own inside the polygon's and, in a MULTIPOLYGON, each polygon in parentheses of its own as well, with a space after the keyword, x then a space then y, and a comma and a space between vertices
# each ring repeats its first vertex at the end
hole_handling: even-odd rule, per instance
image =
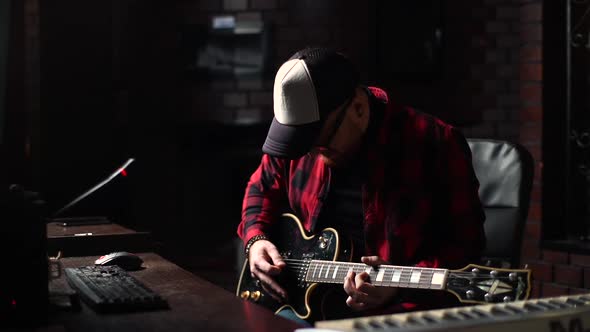
POLYGON ((284 125, 273 118, 262 152, 274 157, 296 159, 308 153, 321 129, 320 122, 284 125))

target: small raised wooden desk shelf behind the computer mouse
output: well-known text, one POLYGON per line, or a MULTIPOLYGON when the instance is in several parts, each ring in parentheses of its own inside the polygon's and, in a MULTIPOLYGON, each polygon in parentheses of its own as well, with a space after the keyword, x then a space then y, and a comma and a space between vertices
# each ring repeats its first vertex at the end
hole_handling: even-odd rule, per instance
POLYGON ((153 250, 149 232, 137 232, 119 224, 64 227, 47 224, 47 251, 64 257, 103 255, 113 251, 147 252, 153 250))

